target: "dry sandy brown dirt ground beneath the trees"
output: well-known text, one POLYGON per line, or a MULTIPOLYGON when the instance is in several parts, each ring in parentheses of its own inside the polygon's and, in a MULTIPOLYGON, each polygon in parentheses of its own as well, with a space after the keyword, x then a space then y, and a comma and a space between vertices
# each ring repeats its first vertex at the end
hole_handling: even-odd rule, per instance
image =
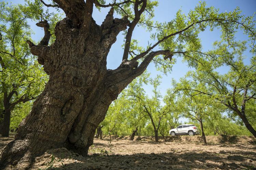
MULTIPOLYGON (((0 152, 12 139, 0 137, 0 152)), ((48 150, 29 169, 256 169, 253 137, 207 136, 207 145, 200 136, 167 137, 158 143, 151 137, 127 139, 95 139, 87 157, 65 148, 48 150)))

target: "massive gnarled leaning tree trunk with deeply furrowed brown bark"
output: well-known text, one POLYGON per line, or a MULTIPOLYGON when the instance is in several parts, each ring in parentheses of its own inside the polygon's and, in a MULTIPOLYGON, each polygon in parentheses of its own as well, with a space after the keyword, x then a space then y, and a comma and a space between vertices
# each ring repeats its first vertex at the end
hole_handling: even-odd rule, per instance
MULTIPOLYGON (((151 50, 168 37, 182 32, 164 37, 132 60, 124 55, 117 69, 108 70, 106 58, 117 35, 136 23, 138 17, 131 23, 127 17, 114 19, 112 7, 99 26, 91 16, 97 0, 54 2, 67 16, 56 24, 55 42, 48 46, 51 33, 46 20, 37 23, 44 28, 45 34, 40 43, 34 45, 27 40, 31 53, 38 56, 39 64, 49 74, 49 81, 35 100, 31 113, 20 123, 14 140, 4 148, 0 164, 28 166, 35 156, 59 147, 87 155, 96 128, 111 102, 145 71, 155 56, 161 54, 171 60, 173 55, 169 50, 151 50), (137 60, 141 58, 143 61, 138 66, 137 60)), ((135 3, 135 15, 145 10, 146 0, 125 3, 128 2, 135 3)), ((115 5, 118 4, 105 6, 115 5)), ((130 29, 129 35, 132 31, 130 29)), ((128 46, 125 48, 129 50, 128 46)))

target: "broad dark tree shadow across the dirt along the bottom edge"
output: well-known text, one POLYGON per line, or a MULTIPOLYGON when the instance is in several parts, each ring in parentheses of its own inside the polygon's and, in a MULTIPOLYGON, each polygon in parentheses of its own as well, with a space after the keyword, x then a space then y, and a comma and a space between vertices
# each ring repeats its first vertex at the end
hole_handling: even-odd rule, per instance
POLYGON ((77 162, 63 163, 55 169, 250 169, 255 165, 239 153, 186 152, 132 155, 99 155, 74 158, 77 162), (239 162, 239 163, 237 163, 239 162))

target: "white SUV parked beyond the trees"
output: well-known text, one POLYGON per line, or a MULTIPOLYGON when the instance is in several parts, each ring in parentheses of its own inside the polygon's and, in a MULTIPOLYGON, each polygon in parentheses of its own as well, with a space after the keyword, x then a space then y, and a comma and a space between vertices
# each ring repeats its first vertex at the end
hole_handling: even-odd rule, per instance
POLYGON ((169 134, 172 136, 175 136, 175 135, 193 136, 193 135, 199 134, 199 133, 197 131, 197 127, 194 124, 182 124, 182 125, 179 125, 175 129, 171 129, 169 131, 169 134))

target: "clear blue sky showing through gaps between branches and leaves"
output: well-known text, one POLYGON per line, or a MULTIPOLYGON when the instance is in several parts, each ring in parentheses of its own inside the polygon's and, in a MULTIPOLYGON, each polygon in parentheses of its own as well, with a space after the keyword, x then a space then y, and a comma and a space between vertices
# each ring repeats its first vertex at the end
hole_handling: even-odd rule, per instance
MULTIPOLYGON (((2 1, 2 0, 1 0, 2 1)), ((24 3, 23 0, 4 0, 5 2, 13 2, 13 3, 24 3)), ((45 0, 46 3, 47 0, 45 0)), ((107 0, 107 2, 109 2, 107 0)), ((175 17, 175 14, 177 10, 182 9, 183 13, 187 14, 189 10, 193 10, 193 8, 199 3, 198 0, 159 0, 159 6, 155 8, 155 17, 154 20, 158 22, 168 22, 172 20, 175 17)), ((215 8, 219 8, 219 12, 229 12, 234 10, 237 6, 240 7, 240 10, 242 11, 242 14, 244 15, 253 15, 254 12, 256 12, 256 0, 206 0, 206 3, 208 6, 214 6, 215 8)), ((51 11, 54 10, 54 8, 49 8, 51 11)), ((96 20, 96 23, 101 24, 102 21, 105 18, 105 15, 108 13, 109 8, 103 8, 101 12, 99 12, 97 9, 94 10, 93 17, 96 20)), ((115 16, 118 17, 118 16, 115 16)), ((34 22, 30 22, 31 28, 35 32, 33 35, 33 39, 38 41, 43 36, 43 30, 37 26, 35 26, 34 22)), ((216 40, 220 40, 219 38, 220 32, 219 30, 214 30, 213 32, 210 32, 209 30, 206 30, 203 33, 200 33, 200 38, 203 45, 203 50, 209 50, 212 48, 212 43, 216 40)), ((139 40, 139 45, 146 47, 148 44, 148 41, 152 42, 150 39, 150 33, 146 32, 143 28, 136 27, 133 32, 133 37, 139 40)), ((237 38, 240 40, 246 39, 246 36, 242 34, 242 32, 239 32, 237 34, 237 38)), ((122 33, 120 33, 117 37, 116 43, 112 46, 110 53, 108 55, 107 60, 107 68, 109 69, 115 69, 117 68, 122 60, 123 56, 123 49, 121 45, 123 44, 124 36, 122 33)), ((154 43, 154 42, 152 42, 154 43)), ((250 61, 250 53, 246 52, 246 55, 248 56, 245 59, 245 62, 248 64, 250 61)), ((175 79, 179 81, 181 77, 183 77, 188 70, 191 68, 188 68, 186 63, 182 62, 182 58, 177 58, 177 62, 173 65, 173 69, 171 73, 168 73, 168 75, 162 75, 162 83, 160 85, 160 91, 162 95, 165 95, 165 92, 168 88, 171 87, 171 79, 175 79)), ((159 71, 156 71, 154 64, 150 64, 148 66, 148 72, 151 73, 151 77, 155 77, 157 74, 162 74, 159 71)), ((227 68, 223 67, 218 70, 219 72, 227 72, 227 68)), ((148 95, 152 94, 152 87, 150 85, 146 85, 145 90, 148 95)))

